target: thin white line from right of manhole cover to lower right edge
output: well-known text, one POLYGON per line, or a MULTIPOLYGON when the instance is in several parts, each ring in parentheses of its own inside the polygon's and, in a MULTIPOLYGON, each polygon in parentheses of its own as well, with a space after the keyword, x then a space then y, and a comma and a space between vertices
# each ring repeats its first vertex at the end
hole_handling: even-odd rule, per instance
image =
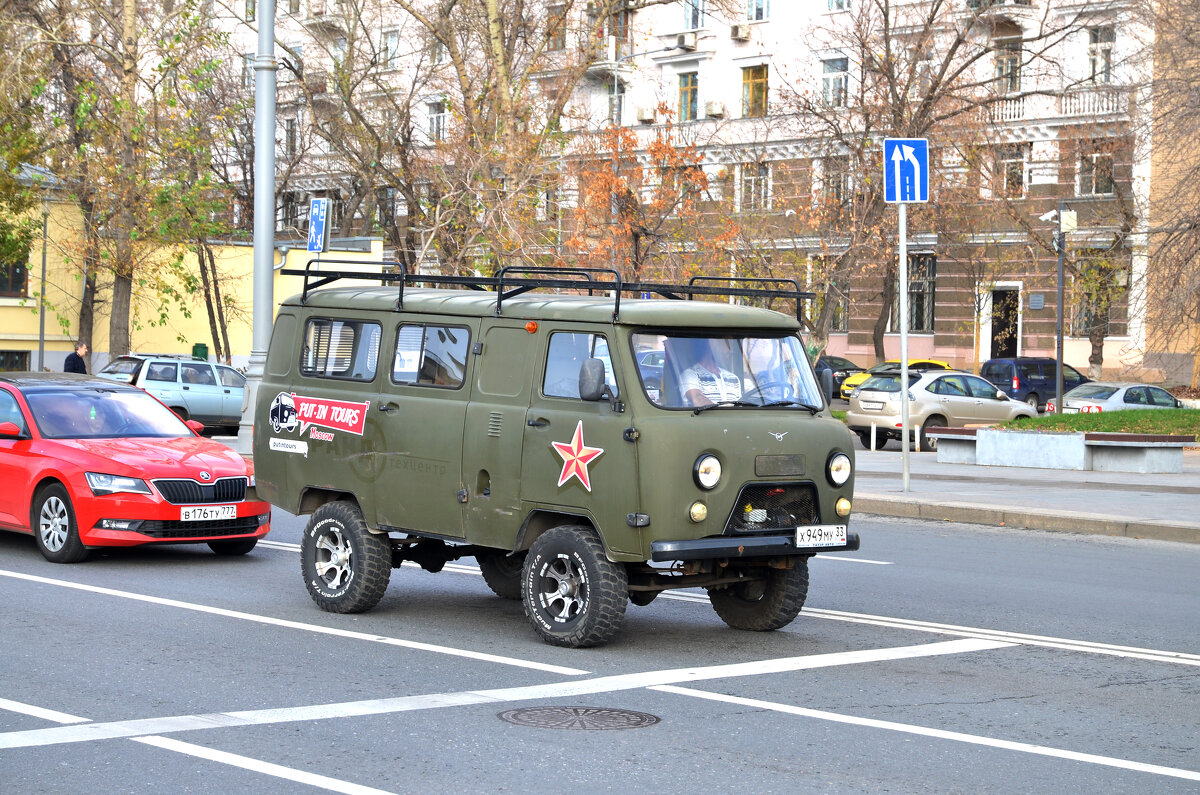
POLYGON ((690 695, 698 699, 708 699, 710 701, 722 701, 725 704, 737 704, 738 706, 749 706, 758 710, 770 710, 773 712, 785 712, 787 715, 796 715, 805 718, 816 718, 818 721, 833 721, 835 723, 848 723, 851 725, 869 727, 872 729, 887 729, 889 731, 902 731, 905 734, 914 734, 924 737, 937 737, 940 740, 953 740, 956 742, 968 742, 977 746, 986 746, 989 748, 1001 748, 1004 751, 1018 751, 1021 753, 1038 754, 1042 757, 1054 757, 1057 759, 1069 759, 1072 761, 1084 761, 1092 765, 1105 765, 1108 767, 1121 767, 1124 770, 1134 770, 1142 773, 1154 773, 1157 776, 1171 776, 1174 778, 1184 778, 1188 781, 1200 781, 1200 771, 1183 770, 1180 767, 1164 767, 1162 765, 1150 765, 1141 761, 1130 761, 1128 759, 1117 759, 1115 757, 1100 757, 1097 754, 1085 754, 1078 751, 1066 751, 1062 748, 1051 748, 1048 746, 1036 746, 1027 742, 1014 742, 1012 740, 996 740, 994 737, 983 737, 973 734, 962 734, 961 731, 947 731, 944 729, 930 729, 926 727, 910 725, 906 723, 894 723, 892 721, 876 721, 875 718, 859 718, 850 715, 838 715, 836 712, 824 712, 821 710, 809 710, 805 707, 792 706, 790 704, 775 704, 772 701, 762 701, 758 699, 748 699, 738 695, 725 695, 722 693, 709 693, 707 691, 697 691, 689 687, 676 687, 672 685, 661 685, 650 688, 652 691, 661 691, 664 693, 674 693, 677 695, 690 695))

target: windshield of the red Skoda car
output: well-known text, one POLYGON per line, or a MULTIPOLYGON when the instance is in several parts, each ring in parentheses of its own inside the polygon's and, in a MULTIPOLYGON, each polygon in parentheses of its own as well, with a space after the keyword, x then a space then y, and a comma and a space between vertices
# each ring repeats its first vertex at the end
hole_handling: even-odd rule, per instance
POLYGON ((192 435, 174 412, 140 390, 36 390, 25 400, 46 438, 192 435))

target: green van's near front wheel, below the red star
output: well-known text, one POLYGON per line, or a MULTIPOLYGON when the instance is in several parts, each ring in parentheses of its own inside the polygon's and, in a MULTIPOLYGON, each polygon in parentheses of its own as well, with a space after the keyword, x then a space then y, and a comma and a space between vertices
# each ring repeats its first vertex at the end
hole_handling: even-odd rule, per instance
POLYGON ((554 527, 533 543, 521 573, 526 617, 552 646, 608 642, 625 620, 629 574, 590 527, 554 527))

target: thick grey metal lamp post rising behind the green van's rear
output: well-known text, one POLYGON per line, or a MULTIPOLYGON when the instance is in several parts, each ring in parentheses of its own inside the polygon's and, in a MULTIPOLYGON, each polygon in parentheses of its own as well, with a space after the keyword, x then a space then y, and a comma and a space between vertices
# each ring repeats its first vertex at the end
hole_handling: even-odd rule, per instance
POLYGON ((254 405, 263 381, 275 321, 275 0, 258 6, 254 58, 254 301, 251 325, 247 402, 238 431, 238 452, 250 453, 254 405))

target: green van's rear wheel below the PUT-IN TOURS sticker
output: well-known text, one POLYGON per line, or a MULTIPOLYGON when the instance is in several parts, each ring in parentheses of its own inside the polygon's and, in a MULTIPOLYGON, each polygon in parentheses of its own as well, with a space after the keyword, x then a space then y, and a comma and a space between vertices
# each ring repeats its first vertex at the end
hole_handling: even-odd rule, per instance
POLYGON ((364 612, 379 604, 391 576, 386 536, 367 530, 348 502, 313 512, 300 542, 300 570, 308 594, 329 612, 364 612))

